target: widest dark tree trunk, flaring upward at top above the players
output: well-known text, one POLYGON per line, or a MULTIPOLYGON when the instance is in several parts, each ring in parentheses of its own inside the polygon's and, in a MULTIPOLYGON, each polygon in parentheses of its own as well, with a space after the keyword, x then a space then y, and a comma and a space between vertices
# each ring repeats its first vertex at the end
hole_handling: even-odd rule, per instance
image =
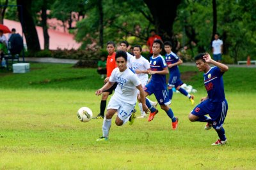
POLYGON ((154 18, 156 31, 163 41, 173 41, 173 22, 177 16, 177 7, 181 0, 165 1, 165 0, 144 0, 150 13, 154 18))

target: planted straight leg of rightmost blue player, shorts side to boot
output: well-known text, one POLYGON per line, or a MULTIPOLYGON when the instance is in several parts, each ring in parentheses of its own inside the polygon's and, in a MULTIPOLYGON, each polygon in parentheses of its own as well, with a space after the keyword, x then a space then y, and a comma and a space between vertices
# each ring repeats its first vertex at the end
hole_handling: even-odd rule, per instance
POLYGON ((219 139, 215 143, 212 143, 212 145, 224 145, 225 143, 227 143, 225 129, 223 128, 224 120, 226 118, 228 110, 227 101, 225 100, 222 103, 219 103, 218 106, 216 106, 215 108, 216 114, 214 115, 218 115, 218 117, 214 119, 212 127, 217 132, 219 139))

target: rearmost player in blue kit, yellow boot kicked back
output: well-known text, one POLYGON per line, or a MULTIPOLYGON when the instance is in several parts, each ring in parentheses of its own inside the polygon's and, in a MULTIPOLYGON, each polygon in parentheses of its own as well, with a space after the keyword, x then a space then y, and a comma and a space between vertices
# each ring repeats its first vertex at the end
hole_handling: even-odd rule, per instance
POLYGON ((170 41, 164 41, 164 50, 166 52, 165 60, 167 67, 169 69, 169 81, 168 81, 168 96, 170 101, 172 102, 173 91, 172 88, 175 87, 176 90, 179 90, 181 94, 187 96, 191 101, 191 104, 194 104, 194 96, 188 94, 188 92, 180 87, 183 85, 183 82, 180 80, 180 71, 179 65, 182 64, 182 60, 178 55, 172 52, 172 43, 170 41))

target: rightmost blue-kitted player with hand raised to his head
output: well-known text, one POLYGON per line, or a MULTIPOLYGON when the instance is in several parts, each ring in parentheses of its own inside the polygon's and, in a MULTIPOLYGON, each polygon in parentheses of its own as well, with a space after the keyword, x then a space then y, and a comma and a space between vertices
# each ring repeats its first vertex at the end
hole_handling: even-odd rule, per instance
POLYGON ((196 55, 196 67, 198 71, 204 72, 204 86, 207 90, 207 97, 202 97, 198 104, 189 114, 191 122, 207 122, 205 130, 213 127, 218 133, 218 139, 212 145, 224 145, 227 143, 223 123, 228 111, 228 103, 225 99, 223 74, 228 71, 228 66, 211 59, 209 53, 196 55), (209 66, 213 64, 214 67, 209 66), (205 115, 210 117, 206 117, 205 115))

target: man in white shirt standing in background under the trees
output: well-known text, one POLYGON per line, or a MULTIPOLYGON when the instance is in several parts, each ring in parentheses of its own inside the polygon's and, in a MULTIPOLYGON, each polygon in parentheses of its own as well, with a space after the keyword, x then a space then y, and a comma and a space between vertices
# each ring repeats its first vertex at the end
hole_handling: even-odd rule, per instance
POLYGON ((214 35, 214 41, 212 41, 212 53, 213 59, 217 62, 221 62, 221 53, 223 52, 223 41, 219 39, 219 34, 214 35))

